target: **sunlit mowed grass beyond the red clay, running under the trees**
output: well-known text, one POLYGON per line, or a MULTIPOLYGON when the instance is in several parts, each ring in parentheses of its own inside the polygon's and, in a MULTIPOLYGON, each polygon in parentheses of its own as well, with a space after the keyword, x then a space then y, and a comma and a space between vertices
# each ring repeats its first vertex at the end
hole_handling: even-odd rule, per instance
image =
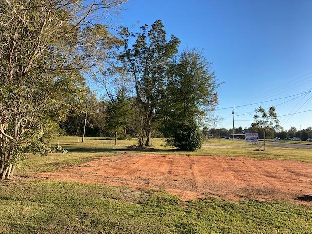
MULTIPOLYGON (((80 137, 81 140, 81 137, 80 137)), ((188 152, 178 151, 172 147, 165 147, 164 139, 153 139, 152 146, 146 149, 129 149, 128 146, 137 144, 136 139, 114 140, 100 137, 86 137, 85 142, 77 142, 77 137, 58 137, 51 143, 59 143, 68 149, 68 154, 56 153, 41 157, 38 154, 29 154, 28 159, 20 164, 16 170, 18 176, 30 176, 40 172, 59 170, 66 166, 74 166, 93 160, 95 157, 112 156, 123 152, 155 153, 155 154, 182 154, 203 156, 250 157, 262 159, 281 159, 312 162, 311 149, 270 148, 266 151, 256 151, 255 147, 245 144, 243 140, 209 139, 201 149, 188 152)))

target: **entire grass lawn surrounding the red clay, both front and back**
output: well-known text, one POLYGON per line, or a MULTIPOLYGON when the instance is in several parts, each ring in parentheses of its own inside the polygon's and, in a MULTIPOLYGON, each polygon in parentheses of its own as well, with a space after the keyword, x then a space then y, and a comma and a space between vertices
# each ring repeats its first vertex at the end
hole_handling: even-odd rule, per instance
POLYGON ((312 162, 303 149, 255 151, 242 141, 209 140, 196 152, 180 152, 153 139, 148 149, 129 149, 136 140, 59 137, 68 154, 29 155, 13 181, 0 183, 0 233, 312 233, 311 206, 290 202, 229 202, 212 197, 181 201, 164 191, 56 182, 32 178, 39 172, 81 164, 120 152, 291 159, 312 162), (19 177, 20 176, 20 177, 19 177), (26 177, 26 178, 21 178, 26 177), (29 178, 27 178, 29 177, 29 178))

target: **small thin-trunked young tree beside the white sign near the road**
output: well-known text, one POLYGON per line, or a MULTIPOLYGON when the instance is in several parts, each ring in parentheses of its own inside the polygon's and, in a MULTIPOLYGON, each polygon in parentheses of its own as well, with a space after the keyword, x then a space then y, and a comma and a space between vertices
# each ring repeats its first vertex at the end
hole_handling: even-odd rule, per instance
POLYGON ((277 124, 279 120, 277 119, 274 106, 270 106, 268 112, 266 112, 263 107, 259 106, 255 109, 255 112, 255 121, 252 125, 254 125, 259 130, 263 130, 263 151, 265 151, 266 131, 272 129, 273 125, 277 124))

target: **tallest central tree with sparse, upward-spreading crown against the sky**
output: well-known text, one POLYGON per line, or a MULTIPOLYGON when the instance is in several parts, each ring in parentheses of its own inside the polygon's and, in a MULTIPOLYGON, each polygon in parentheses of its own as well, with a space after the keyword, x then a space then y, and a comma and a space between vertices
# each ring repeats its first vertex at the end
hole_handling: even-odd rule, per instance
POLYGON ((128 28, 123 28, 121 35, 124 39, 124 52, 121 58, 127 71, 134 78, 137 105, 142 114, 139 145, 150 145, 151 124, 155 110, 164 92, 166 71, 171 59, 177 53, 180 41, 171 36, 167 41, 166 31, 161 20, 157 20, 149 28, 141 27, 142 32, 134 35, 128 28), (149 29, 149 30, 148 30, 149 29), (137 37, 130 48, 130 37, 137 37))

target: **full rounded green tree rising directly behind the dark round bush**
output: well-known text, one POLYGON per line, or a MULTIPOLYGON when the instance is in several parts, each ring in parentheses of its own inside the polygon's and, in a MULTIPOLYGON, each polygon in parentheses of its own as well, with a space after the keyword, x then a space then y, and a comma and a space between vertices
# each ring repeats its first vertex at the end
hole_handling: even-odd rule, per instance
MULTIPOLYGON (((217 102, 218 84, 215 72, 211 71, 211 63, 196 50, 181 53, 167 75, 168 85, 157 113, 162 118, 164 135, 174 138, 173 141, 168 140, 172 143, 183 129, 190 128, 195 132, 199 129, 199 122, 205 117, 205 108, 215 106, 217 102)), ((197 134, 190 136, 198 138, 197 134)), ((193 141, 189 140, 190 143, 193 141)), ((187 143, 183 140, 183 144, 187 143)), ((187 148, 183 144, 179 147, 187 148)))

